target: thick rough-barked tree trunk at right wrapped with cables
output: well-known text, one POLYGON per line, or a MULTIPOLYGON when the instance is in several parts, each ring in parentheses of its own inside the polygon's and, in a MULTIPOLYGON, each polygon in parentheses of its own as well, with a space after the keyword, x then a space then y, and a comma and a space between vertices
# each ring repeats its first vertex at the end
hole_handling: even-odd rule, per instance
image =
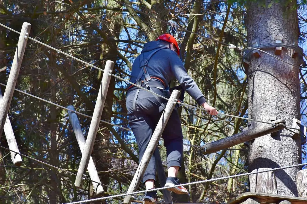
MULTIPOLYGON (((296 1, 265 1, 264 5, 252 1, 247 9, 248 45, 259 38, 260 45, 275 42, 275 36, 282 36, 282 42, 293 44, 298 39, 296 1), (288 2, 288 3, 287 3, 288 2)), ((266 49, 274 55, 274 48, 266 49)), ((290 56, 290 49, 282 48, 282 58, 298 65, 297 58, 290 56)), ((267 54, 251 58, 248 71, 249 118, 269 121, 271 115, 286 120, 300 118, 299 67, 291 66, 267 54)), ((256 126, 261 125, 256 123, 256 126)), ((249 171, 257 168, 277 168, 301 163, 300 138, 291 138, 289 130, 282 130, 275 136, 266 135, 251 142, 249 171)), ((275 172, 278 195, 297 196, 295 185, 297 168, 275 172)))

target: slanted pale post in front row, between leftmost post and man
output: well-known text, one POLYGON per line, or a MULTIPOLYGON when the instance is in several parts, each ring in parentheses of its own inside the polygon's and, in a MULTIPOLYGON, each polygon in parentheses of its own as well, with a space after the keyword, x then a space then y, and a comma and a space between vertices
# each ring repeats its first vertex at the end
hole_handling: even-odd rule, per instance
POLYGON ((90 160, 91 153, 94 147, 95 138, 96 138, 97 130, 99 127, 99 122, 100 122, 100 118, 101 118, 102 111, 103 111, 103 106, 106 101, 107 91, 108 91, 110 80, 111 80, 113 66, 114 66, 114 62, 111 60, 108 60, 104 68, 103 77, 102 77, 101 85, 99 88, 93 117, 91 120, 91 125, 88 131, 88 135, 87 135, 85 146, 84 146, 84 151, 81 157, 79 169, 78 169, 77 176, 76 176, 75 186, 78 188, 81 188, 82 186, 82 183, 83 183, 82 176, 85 172, 85 169, 87 168, 87 165, 90 160))

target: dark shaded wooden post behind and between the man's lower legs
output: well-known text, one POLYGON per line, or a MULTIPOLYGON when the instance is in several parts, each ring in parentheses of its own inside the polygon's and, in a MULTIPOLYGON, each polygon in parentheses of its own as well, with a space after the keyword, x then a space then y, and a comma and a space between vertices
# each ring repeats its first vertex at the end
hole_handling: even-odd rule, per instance
MULTIPOLYGON (((156 148, 156 150, 154 151, 154 157, 156 158, 156 169, 157 169, 157 173, 158 173, 159 183, 160 183, 161 187, 164 187, 164 185, 166 183, 166 176, 165 176, 164 167, 163 167, 163 164, 162 164, 162 160, 161 160, 161 156, 160 156, 160 152, 159 152, 158 148, 156 148)), ((173 202, 172 195, 171 195, 170 191, 164 189, 161 192, 163 194, 164 202, 169 202, 169 203, 173 202)))

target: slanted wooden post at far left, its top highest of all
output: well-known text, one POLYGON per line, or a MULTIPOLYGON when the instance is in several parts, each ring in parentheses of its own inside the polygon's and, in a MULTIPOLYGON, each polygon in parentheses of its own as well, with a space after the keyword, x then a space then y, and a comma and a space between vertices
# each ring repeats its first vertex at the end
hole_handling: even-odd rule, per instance
POLYGON ((27 45, 30 29, 31 29, 31 24, 26 22, 22 24, 12 67, 10 70, 9 78, 7 80, 6 89, 3 95, 3 100, 1 101, 0 104, 0 138, 6 121, 7 113, 9 112, 19 70, 21 67, 22 58, 25 53, 25 47, 27 45))

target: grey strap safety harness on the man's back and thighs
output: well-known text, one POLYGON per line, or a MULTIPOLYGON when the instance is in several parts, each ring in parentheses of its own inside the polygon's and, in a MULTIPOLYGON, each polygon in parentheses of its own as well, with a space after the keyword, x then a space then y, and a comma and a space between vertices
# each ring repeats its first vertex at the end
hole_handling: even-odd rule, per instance
MULTIPOLYGON (((149 62, 151 56, 152 56, 153 54, 155 54, 157 51, 162 50, 162 49, 167 49, 167 47, 159 47, 159 48, 153 50, 146 58, 144 58, 144 53, 142 53, 142 54, 139 56, 139 59, 140 59, 140 69, 141 69, 141 70, 140 70, 140 73, 138 74, 137 80, 135 81, 135 84, 136 84, 136 85, 141 86, 142 83, 144 83, 144 85, 146 86, 146 88, 147 88, 148 90, 150 90, 151 87, 150 87, 148 81, 150 81, 151 79, 157 79, 157 80, 161 81, 161 82, 164 84, 164 82, 163 82, 160 78, 157 78, 157 77, 150 77, 150 75, 149 75, 149 73, 148 73, 148 71, 147 71, 147 69, 146 69, 146 66, 147 66, 147 64, 148 64, 148 62, 149 62), (143 76, 143 74, 144 74, 145 78, 144 78, 143 80, 141 80, 141 77, 143 76)), ((164 86, 165 86, 165 84, 164 84, 164 86)), ((129 87, 129 88, 130 88, 130 87, 129 87)), ((128 89, 129 89, 129 88, 128 88, 128 89)), ((133 111, 136 111, 136 100, 137 100, 137 98, 138 98, 138 93, 140 92, 140 89, 141 89, 141 88, 138 87, 138 90, 136 91, 135 96, 134 96, 134 99, 133 99, 133 111)), ((160 103, 160 105, 161 105, 163 108, 165 108, 165 105, 164 105, 164 103, 161 101, 161 98, 159 98, 159 97, 156 96, 155 94, 153 94, 153 96, 157 99, 157 101, 160 103)))

